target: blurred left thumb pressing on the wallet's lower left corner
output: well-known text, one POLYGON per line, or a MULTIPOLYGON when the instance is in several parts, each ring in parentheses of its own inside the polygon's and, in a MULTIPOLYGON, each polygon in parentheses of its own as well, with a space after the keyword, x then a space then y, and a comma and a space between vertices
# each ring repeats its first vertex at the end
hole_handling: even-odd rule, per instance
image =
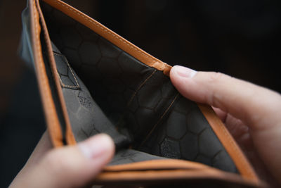
POLYGON ((111 137, 98 134, 77 146, 49 151, 29 178, 36 176, 34 184, 46 187, 83 187, 94 180, 114 153, 115 144, 111 137))

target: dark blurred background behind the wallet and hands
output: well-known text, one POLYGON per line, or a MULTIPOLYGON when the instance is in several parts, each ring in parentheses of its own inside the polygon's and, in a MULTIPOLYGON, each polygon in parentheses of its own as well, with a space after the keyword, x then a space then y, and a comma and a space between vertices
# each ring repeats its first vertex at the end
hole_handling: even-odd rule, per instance
MULTIPOLYGON (((280 1, 67 1, 171 65, 212 70, 281 91, 280 1)), ((0 0, 0 187, 45 130, 37 81, 17 55, 26 1, 0 0)))

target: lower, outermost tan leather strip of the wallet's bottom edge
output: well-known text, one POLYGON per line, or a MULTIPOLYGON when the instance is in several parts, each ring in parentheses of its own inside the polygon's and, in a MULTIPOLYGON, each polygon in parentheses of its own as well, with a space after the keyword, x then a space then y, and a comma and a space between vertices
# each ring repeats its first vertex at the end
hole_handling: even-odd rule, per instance
POLYGON ((245 180, 240 175, 233 173, 225 173, 216 169, 193 169, 193 170, 128 170, 118 172, 103 172, 96 177, 96 184, 103 183, 137 183, 141 184, 149 182, 170 182, 174 181, 186 181, 188 180, 221 180, 223 182, 235 182, 251 187, 261 187, 263 184, 257 184, 257 182, 251 180, 245 180))

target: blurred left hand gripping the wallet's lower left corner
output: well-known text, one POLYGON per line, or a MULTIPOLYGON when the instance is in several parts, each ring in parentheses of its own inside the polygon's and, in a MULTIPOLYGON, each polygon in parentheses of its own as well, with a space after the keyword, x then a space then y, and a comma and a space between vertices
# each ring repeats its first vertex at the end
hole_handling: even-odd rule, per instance
POLYGON ((98 134, 76 146, 52 149, 45 132, 10 187, 84 187, 112 158, 112 139, 98 134))

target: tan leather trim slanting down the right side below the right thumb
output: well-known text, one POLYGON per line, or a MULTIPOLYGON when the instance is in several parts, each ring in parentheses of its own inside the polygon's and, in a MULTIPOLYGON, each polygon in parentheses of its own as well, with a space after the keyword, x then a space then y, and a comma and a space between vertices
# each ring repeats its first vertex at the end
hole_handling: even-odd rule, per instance
POLYGON ((254 169, 211 106, 197 104, 243 177, 259 182, 254 169))

